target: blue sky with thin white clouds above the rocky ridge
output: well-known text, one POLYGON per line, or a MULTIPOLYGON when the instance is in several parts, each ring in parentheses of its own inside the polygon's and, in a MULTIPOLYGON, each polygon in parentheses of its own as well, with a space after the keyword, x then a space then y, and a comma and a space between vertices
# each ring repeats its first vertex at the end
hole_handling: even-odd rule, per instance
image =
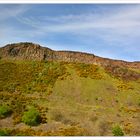
POLYGON ((140 4, 0 4, 0 46, 17 42, 140 61, 140 4))

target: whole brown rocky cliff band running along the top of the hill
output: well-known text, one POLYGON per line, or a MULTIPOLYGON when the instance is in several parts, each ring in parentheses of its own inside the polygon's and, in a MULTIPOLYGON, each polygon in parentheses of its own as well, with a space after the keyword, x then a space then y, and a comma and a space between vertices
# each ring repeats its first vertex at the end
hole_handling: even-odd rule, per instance
POLYGON ((121 60, 112 60, 101 58, 93 54, 73 52, 73 51, 54 51, 46 47, 41 47, 33 43, 8 44, 0 48, 1 59, 14 60, 48 60, 79 62, 87 64, 98 64, 101 66, 123 66, 140 69, 140 62, 126 62, 121 60))

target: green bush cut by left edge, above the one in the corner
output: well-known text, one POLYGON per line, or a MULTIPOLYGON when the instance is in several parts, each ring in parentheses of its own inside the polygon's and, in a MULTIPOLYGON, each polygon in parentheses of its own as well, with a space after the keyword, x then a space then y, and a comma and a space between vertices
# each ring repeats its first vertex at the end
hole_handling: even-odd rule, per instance
POLYGON ((11 114, 11 109, 7 105, 0 106, 0 118, 5 118, 11 114))

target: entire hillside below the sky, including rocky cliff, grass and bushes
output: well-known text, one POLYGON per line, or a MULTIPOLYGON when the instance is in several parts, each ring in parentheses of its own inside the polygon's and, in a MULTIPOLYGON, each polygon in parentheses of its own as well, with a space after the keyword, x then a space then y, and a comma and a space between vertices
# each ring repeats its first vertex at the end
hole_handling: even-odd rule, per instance
POLYGON ((140 63, 54 51, 0 48, 0 135, 139 136, 140 63))

